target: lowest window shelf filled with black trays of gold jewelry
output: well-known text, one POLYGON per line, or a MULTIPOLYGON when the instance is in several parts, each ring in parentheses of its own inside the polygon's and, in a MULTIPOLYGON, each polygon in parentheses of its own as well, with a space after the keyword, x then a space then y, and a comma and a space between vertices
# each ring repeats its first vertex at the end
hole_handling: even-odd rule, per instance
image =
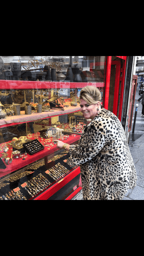
POLYGON ((64 151, 50 159, 48 168, 43 160, 26 171, 13 173, 1 180, 0 201, 34 199, 75 167, 64 151))

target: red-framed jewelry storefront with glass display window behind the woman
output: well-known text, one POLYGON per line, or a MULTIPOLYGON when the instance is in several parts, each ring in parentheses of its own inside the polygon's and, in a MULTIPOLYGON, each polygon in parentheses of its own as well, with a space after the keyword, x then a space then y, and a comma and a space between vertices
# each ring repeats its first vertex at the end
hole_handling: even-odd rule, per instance
MULTIPOLYGON (((46 133, 47 138, 42 133, 50 131, 53 125, 60 129, 65 126, 66 142, 78 142, 85 124, 79 111, 78 97, 86 85, 98 87, 103 107, 112 111, 122 121, 127 57, 2 56, 0 60, 1 103, 5 112, 8 109, 0 120, 1 199, 73 198, 81 190, 78 186, 80 169, 73 166, 69 157, 63 155, 53 144, 52 130, 49 134, 46 133), (9 115, 12 109, 10 105, 16 110, 9 115), (17 113, 16 105, 20 105, 20 113, 17 113), (43 110, 38 111, 37 105, 41 105, 43 110), (29 106, 32 110, 26 113, 29 106), (79 134, 70 133, 71 129, 79 134), (39 151, 34 151, 34 148, 29 151, 31 145, 28 143, 32 143, 29 139, 36 141, 36 145, 42 145, 38 145, 39 151), (15 147, 18 146, 15 140, 19 140, 21 149, 15 147), (23 146, 26 143, 28 146, 23 146), (19 153, 11 157, 13 151, 19 153), (61 158, 58 157, 60 154, 61 158), (43 189, 36 187, 38 179, 43 183, 43 189), (63 190, 60 192, 65 186, 65 193, 63 190)), ((55 136, 56 134, 59 134, 58 131, 55 136)))

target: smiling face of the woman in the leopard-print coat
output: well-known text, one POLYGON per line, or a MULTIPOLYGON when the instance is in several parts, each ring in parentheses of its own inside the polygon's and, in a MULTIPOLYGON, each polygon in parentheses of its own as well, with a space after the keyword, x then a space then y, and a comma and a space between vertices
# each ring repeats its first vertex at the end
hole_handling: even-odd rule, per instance
POLYGON ((81 99, 80 107, 85 119, 93 119, 98 114, 97 108, 100 108, 100 103, 90 105, 81 99))

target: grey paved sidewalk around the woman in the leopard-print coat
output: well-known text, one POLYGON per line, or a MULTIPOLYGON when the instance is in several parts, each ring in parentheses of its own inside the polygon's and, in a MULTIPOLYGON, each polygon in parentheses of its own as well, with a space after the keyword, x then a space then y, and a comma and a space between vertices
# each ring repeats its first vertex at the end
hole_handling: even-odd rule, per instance
MULTIPOLYGON (((129 145, 137 171, 137 186, 129 189, 123 200, 144 200, 144 134, 129 145)), ((83 200, 82 190, 72 200, 83 200)))

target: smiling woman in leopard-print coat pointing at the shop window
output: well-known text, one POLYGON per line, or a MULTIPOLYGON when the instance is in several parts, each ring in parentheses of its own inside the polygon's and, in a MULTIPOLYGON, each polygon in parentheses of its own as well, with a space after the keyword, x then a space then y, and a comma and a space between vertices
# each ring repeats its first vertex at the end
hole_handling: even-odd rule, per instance
POLYGON ((113 113, 102 108, 97 87, 84 87, 80 99, 83 116, 92 121, 78 145, 57 140, 57 146, 68 150, 71 160, 80 165, 85 200, 121 200, 137 181, 122 124, 113 113))

